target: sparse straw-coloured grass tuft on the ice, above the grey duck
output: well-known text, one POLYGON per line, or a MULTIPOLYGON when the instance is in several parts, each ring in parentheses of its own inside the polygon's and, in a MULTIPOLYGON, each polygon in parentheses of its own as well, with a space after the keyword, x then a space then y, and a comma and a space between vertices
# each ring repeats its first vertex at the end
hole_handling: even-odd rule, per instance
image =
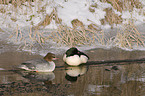
POLYGON ((45 43, 46 37, 43 36, 42 32, 39 32, 37 29, 32 31, 32 28, 28 29, 28 33, 21 31, 20 27, 17 26, 16 30, 12 32, 9 38, 14 38, 14 42, 22 42, 19 45, 19 48, 27 48, 31 50, 34 47, 34 43, 38 43, 41 47, 45 43), (26 35, 27 34, 27 35, 26 35))

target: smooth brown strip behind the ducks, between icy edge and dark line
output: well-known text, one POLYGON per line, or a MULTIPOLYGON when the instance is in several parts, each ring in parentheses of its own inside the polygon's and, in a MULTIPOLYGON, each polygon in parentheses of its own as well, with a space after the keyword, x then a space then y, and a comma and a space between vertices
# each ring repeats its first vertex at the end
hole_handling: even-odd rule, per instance
MULTIPOLYGON (((81 51, 81 50, 80 50, 81 51)), ((125 51, 119 48, 102 49, 96 48, 85 51, 90 57, 88 62, 113 61, 113 60, 134 60, 145 58, 145 51, 125 51)), ((64 66, 63 54, 56 54, 59 60, 55 61, 56 66, 64 66)), ((10 70, 26 60, 43 58, 39 54, 30 54, 25 51, 6 51, 0 54, 0 68, 10 70)))

